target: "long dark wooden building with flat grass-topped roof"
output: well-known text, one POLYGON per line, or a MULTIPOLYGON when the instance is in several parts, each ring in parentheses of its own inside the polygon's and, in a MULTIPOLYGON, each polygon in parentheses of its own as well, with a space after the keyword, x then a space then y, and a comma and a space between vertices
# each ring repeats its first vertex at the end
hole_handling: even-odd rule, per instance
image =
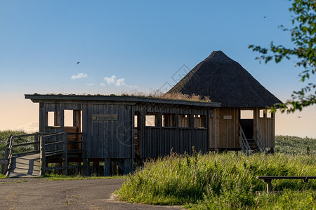
MULTIPOLYGON (((88 166, 104 162, 128 174, 134 162, 176 153, 209 151, 209 119, 219 103, 150 97, 26 94, 39 103, 39 132, 67 133, 67 162, 88 166)), ((44 155, 45 157, 45 155, 44 155)), ((65 159, 65 155, 63 156, 65 159)), ((62 164, 51 155, 46 162, 62 164)))

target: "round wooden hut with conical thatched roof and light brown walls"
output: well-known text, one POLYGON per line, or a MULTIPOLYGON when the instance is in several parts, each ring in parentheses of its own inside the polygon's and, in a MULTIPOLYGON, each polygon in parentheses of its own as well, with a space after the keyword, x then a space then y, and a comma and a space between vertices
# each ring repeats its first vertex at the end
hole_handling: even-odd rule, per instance
POLYGON ((167 93, 177 92, 220 103, 209 119, 211 151, 274 150, 275 115, 267 109, 282 102, 223 52, 212 52, 167 93))

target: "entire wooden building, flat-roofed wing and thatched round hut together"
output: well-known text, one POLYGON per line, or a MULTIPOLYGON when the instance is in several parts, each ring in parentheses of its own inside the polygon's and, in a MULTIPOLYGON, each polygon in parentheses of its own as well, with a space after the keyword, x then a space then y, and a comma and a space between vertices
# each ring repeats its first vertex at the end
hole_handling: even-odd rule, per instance
MULTIPOLYGON (((62 166, 56 170, 73 162, 90 175, 90 166, 94 170, 103 162, 105 176, 115 174, 117 167, 128 174, 135 162, 171 150, 190 154, 193 146, 202 153, 273 151, 275 116, 267 109, 282 102, 223 52, 212 52, 168 93, 179 92, 209 97, 211 102, 100 95, 25 98, 39 103, 42 162, 62 166)), ((45 170, 42 167, 42 174, 45 170)))

